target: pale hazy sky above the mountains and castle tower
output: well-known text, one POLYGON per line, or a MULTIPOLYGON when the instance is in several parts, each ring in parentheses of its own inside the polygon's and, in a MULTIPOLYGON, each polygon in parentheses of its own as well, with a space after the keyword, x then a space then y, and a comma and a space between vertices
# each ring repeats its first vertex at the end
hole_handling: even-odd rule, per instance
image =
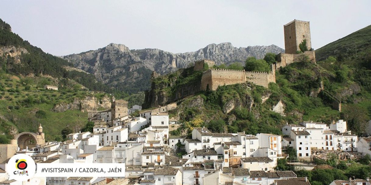
POLYGON ((317 49, 370 25, 370 7, 370 0, 1 0, 0 18, 53 55, 109 43, 183 53, 222 42, 283 48, 283 24, 293 19, 310 21, 317 49))

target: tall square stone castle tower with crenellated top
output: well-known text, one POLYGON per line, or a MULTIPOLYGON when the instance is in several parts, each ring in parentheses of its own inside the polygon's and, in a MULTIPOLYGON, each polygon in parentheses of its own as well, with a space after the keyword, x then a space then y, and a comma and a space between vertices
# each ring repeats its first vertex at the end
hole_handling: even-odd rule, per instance
POLYGON ((309 21, 293 20, 283 26, 285 34, 285 53, 300 51, 299 44, 305 39, 308 50, 312 49, 309 21))

